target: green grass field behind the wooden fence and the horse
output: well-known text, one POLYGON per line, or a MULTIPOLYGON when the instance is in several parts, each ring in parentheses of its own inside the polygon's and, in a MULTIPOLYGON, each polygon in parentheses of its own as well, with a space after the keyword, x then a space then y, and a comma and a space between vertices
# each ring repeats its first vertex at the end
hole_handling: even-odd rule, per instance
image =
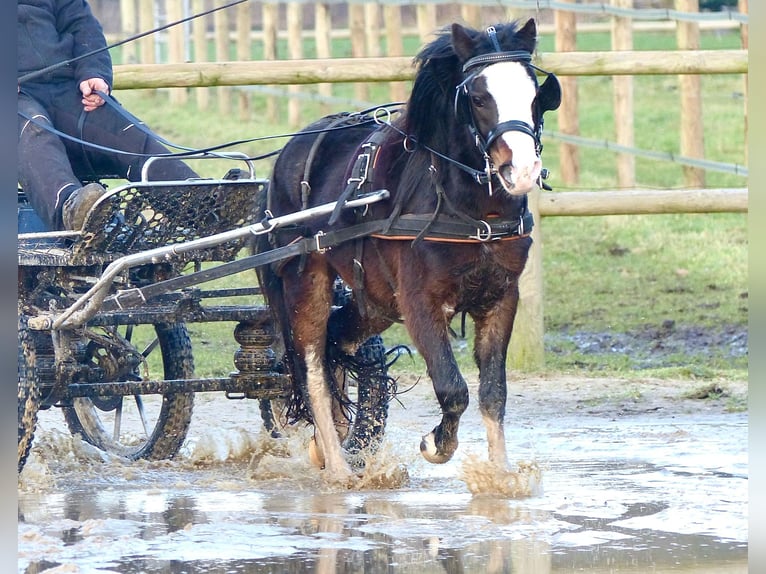
MULTIPOLYGON (((703 48, 738 48, 734 33, 703 33, 703 48)), ((552 50, 552 38, 542 37, 540 51, 552 50)), ((581 34, 578 49, 608 50, 608 34, 581 34)), ((636 34, 636 49, 672 49, 672 34, 636 34)), ((707 159, 744 164, 745 120, 741 76, 702 79, 707 159)), ((352 86, 335 86, 335 94, 353 97, 352 86)), ((581 134, 613 139, 611 81, 578 80, 581 134)), ((284 120, 264 118, 266 99, 249 98, 246 118, 237 111, 199 112, 192 103, 167 104, 166 94, 139 91, 118 94, 128 109, 170 141, 186 146, 209 146, 238 139, 289 133, 284 120)), ((566 97, 566 94, 565 94, 566 97)), ((674 76, 635 78, 636 146, 676 152, 679 149, 679 101, 674 76)), ((370 99, 388 100, 385 86, 370 86, 370 99)), ((281 102, 284 112, 284 101, 281 102)), ((352 110, 336 105, 332 111, 352 110)), ((236 106, 235 106, 236 110, 236 106)), ((318 104, 302 106, 306 123, 322 115, 318 104)), ((546 128, 557 129, 556 113, 546 128)), ((615 154, 581 148, 581 177, 567 187, 556 179, 555 140, 545 140, 544 159, 553 172, 556 192, 570 189, 614 189, 615 154)), ((238 150, 250 154, 279 148, 281 139, 248 143, 238 150)), ((196 166, 195 166, 196 167, 196 166)), ((259 162, 259 175, 268 176, 270 162, 259 162)), ((201 171, 203 171, 201 169, 201 171)), ((219 173, 203 175, 220 176, 219 173)), ((636 161, 640 187, 681 188, 678 165, 636 161)), ((708 171, 708 187, 744 187, 745 178, 708 171)), ((713 380, 747 375, 748 237, 746 214, 681 214, 604 217, 548 217, 538 222, 544 257, 544 323, 548 373, 619 376, 660 376, 713 380), (739 342, 739 346, 732 343, 739 342)), ((223 281, 250 282, 252 275, 223 281)), ((454 325, 457 328, 456 325, 454 325)), ((467 326, 470 341, 471 325, 467 326)), ((190 325, 200 375, 228 374, 236 348, 232 325, 190 325)), ((386 343, 409 342, 400 326, 385 334, 386 343)), ((458 341, 462 368, 473 373, 471 345, 458 341)), ((400 359, 400 368, 425 373, 419 357, 400 359)))

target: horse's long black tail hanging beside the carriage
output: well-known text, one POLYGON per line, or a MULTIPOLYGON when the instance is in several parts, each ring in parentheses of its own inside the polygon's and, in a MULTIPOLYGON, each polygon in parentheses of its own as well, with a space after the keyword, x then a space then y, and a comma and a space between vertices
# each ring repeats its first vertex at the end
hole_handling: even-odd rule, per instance
MULTIPOLYGON (((267 193, 261 193, 257 198, 258 217, 266 217, 267 193)), ((268 233, 260 234, 250 244, 253 253, 264 253, 273 249, 271 237, 268 233)), ((276 330, 279 368, 290 375, 292 391, 287 399, 286 415, 290 422, 306 420, 311 422, 311 411, 304 397, 308 396, 306 390, 306 373, 296 361, 295 344, 290 327, 289 313, 284 297, 284 284, 282 278, 272 265, 261 265, 256 268, 258 283, 261 293, 269 306, 276 330)))

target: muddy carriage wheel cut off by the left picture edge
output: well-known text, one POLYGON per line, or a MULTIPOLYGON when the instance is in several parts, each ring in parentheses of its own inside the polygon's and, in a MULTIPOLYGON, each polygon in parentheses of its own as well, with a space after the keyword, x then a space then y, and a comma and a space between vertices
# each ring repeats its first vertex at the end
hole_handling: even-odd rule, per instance
POLYGON ((29 456, 29 449, 35 437, 37 412, 40 410, 40 388, 35 374, 35 349, 31 333, 27 328, 26 317, 19 315, 19 354, 18 354, 18 410, 19 410, 19 454, 18 471, 24 468, 29 456))

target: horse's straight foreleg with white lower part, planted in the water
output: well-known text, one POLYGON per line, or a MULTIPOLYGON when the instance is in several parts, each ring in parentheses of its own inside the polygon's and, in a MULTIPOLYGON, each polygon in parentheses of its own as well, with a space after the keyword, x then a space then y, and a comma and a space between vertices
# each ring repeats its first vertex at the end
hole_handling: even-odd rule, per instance
POLYGON ((505 405, 508 397, 505 362, 516 314, 516 299, 476 320, 474 358, 479 366, 479 411, 487 429, 489 460, 508 466, 505 405))

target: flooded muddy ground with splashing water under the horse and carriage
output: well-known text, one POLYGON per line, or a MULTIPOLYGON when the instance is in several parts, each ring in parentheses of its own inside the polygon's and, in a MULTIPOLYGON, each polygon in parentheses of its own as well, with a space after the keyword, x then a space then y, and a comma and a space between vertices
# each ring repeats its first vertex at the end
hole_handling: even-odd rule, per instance
POLYGON ((438 406, 419 383, 350 489, 311 466, 310 429, 263 432, 255 401, 199 394, 181 452, 155 462, 104 455, 43 412, 19 480, 18 571, 747 571, 745 382, 509 390, 513 472, 486 462, 475 400, 453 460, 426 463, 438 406))

